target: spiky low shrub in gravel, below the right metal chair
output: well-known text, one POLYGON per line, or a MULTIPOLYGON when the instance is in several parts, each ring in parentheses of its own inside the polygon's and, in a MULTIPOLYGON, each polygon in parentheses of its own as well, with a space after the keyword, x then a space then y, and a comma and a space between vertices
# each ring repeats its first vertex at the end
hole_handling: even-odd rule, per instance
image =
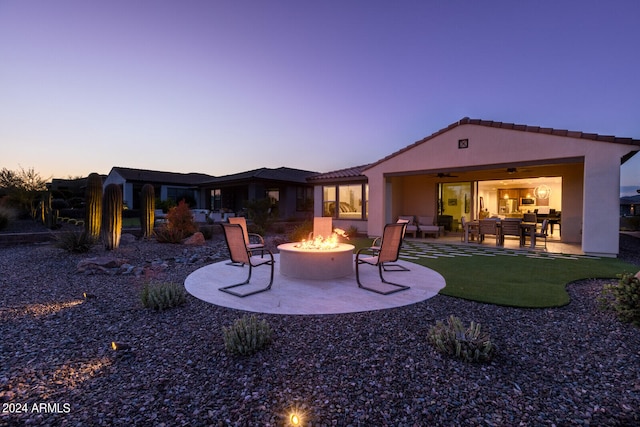
POLYGON ((441 353, 462 359, 465 362, 488 362, 496 352, 489 335, 483 333, 479 323, 471 322, 465 327, 455 316, 447 322, 438 321, 429 329, 429 342, 441 353))

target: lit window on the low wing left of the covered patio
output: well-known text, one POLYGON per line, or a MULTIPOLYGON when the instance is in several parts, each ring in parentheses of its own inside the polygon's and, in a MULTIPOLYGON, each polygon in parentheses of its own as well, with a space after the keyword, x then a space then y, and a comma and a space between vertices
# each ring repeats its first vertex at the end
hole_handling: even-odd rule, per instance
POLYGON ((322 216, 339 219, 367 218, 369 199, 367 184, 325 186, 322 196, 322 216))

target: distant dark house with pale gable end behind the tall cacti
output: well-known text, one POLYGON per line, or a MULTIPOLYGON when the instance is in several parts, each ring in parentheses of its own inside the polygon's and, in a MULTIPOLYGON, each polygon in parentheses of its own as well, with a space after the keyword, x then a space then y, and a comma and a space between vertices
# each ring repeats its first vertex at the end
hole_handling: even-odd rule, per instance
POLYGON ((205 206, 199 204, 198 184, 212 178, 211 175, 202 173, 162 172, 115 166, 103 181, 103 185, 121 185, 122 198, 129 209, 140 208, 140 190, 145 184, 153 185, 157 200, 172 200, 177 203, 185 199, 195 202, 196 208, 203 208, 205 206))

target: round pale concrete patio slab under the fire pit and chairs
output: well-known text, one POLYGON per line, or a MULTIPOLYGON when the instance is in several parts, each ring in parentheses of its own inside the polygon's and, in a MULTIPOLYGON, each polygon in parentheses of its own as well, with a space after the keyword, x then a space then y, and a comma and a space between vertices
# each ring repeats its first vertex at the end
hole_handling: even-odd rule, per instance
MULTIPOLYGON (((398 261, 409 271, 385 272, 385 279, 411 289, 391 295, 380 295, 358 288, 355 272, 332 280, 301 280, 280 275, 279 254, 275 254, 275 275, 271 290, 245 298, 221 292, 222 286, 242 282, 248 267, 228 265, 222 261, 202 267, 185 280, 185 288, 191 295, 211 304, 257 313, 269 314, 339 314, 372 310, 384 310, 424 301, 444 288, 444 278, 437 272, 406 261, 398 261)), ((354 256, 355 259, 355 256, 354 256)), ((380 282, 378 269, 362 265, 361 282, 366 286, 389 289, 380 282)), ((251 284, 240 287, 239 292, 265 287, 269 283, 269 268, 253 269, 251 284)), ((237 288, 236 288, 237 289, 237 288)))

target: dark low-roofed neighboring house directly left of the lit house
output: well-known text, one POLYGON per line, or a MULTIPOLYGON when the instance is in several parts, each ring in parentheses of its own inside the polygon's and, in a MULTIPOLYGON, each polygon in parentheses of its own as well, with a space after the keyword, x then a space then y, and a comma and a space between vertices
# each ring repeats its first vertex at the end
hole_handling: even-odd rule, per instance
POLYGON ((307 218, 313 211, 313 186, 307 178, 316 172, 280 168, 260 168, 210 178, 201 182, 201 206, 214 213, 240 214, 247 201, 269 198, 275 218, 307 218))

